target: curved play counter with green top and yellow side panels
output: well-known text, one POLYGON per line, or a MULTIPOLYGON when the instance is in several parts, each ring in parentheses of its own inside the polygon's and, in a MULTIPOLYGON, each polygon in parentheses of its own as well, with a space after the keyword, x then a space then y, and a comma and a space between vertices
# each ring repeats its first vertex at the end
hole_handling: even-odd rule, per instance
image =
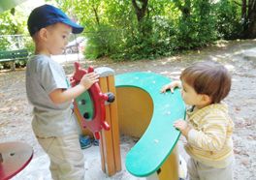
POLYGON ((157 172, 164 179, 161 176, 173 168, 171 176, 177 176, 177 156, 171 153, 180 133, 173 124, 185 115, 179 91, 161 94, 161 87, 170 79, 153 73, 116 75, 115 80, 120 132, 141 137, 126 156, 127 170, 139 177, 157 172), (165 162, 173 164, 168 171, 165 162))

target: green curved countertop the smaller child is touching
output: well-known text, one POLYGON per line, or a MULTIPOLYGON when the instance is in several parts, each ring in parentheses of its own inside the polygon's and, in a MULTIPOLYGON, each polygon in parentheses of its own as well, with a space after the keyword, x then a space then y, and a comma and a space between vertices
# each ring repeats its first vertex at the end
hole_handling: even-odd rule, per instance
POLYGON ((128 152, 125 165, 127 170, 139 177, 146 177, 157 171, 165 162, 180 132, 173 124, 184 119, 185 105, 180 91, 160 93, 163 85, 170 82, 168 77, 153 73, 129 73, 115 76, 115 86, 141 88, 153 101, 153 115, 144 135, 128 152))

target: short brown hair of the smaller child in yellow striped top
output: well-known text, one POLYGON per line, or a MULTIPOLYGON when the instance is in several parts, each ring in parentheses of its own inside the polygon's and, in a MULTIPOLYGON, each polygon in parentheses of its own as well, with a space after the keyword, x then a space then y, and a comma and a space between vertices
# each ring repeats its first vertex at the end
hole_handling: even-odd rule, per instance
POLYGON ((197 62, 186 68, 180 75, 198 94, 206 94, 212 104, 220 103, 230 91, 231 75, 219 63, 197 62))

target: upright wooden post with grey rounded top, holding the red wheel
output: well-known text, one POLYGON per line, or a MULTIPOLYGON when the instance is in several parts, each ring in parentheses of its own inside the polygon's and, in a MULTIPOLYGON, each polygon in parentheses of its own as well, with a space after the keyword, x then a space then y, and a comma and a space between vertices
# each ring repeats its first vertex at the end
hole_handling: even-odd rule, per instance
POLYGON ((110 131, 102 130, 100 138, 100 152, 102 170, 109 176, 121 170, 121 155, 119 146, 119 128, 117 116, 117 101, 114 86, 114 72, 110 68, 95 69, 100 75, 99 84, 103 93, 111 92, 115 100, 106 105, 106 121, 111 126, 110 131))

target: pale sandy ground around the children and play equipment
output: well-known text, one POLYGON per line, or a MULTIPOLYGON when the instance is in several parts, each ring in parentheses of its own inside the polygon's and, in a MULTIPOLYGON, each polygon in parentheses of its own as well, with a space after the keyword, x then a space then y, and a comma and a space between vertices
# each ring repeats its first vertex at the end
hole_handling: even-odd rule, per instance
MULTIPOLYGON (((236 156, 235 179, 254 180, 256 177, 256 41, 218 42, 204 49, 190 51, 182 55, 158 60, 142 60, 136 62, 112 63, 108 60, 98 62, 81 61, 83 66, 92 65, 95 68, 107 66, 116 74, 127 72, 153 72, 177 79, 180 71, 195 60, 214 60, 224 64, 233 74, 232 90, 226 99, 230 115, 235 122, 234 151, 236 156)), ((78 56, 58 56, 56 60, 63 66, 67 74, 73 72, 71 60, 78 56)), ((81 59, 81 58, 80 58, 81 59)), ((25 95, 25 72, 0 73, 0 142, 22 141, 34 149, 34 157, 15 180, 48 180, 48 157, 39 146, 31 129, 31 106, 25 95)), ((186 158, 179 143, 179 153, 186 158)), ((134 140, 121 135, 122 170, 108 177, 101 170, 99 147, 91 146, 83 150, 85 156, 86 180, 137 180, 127 172, 125 155, 134 145, 134 140)), ((141 178, 144 179, 144 178, 141 178)))

